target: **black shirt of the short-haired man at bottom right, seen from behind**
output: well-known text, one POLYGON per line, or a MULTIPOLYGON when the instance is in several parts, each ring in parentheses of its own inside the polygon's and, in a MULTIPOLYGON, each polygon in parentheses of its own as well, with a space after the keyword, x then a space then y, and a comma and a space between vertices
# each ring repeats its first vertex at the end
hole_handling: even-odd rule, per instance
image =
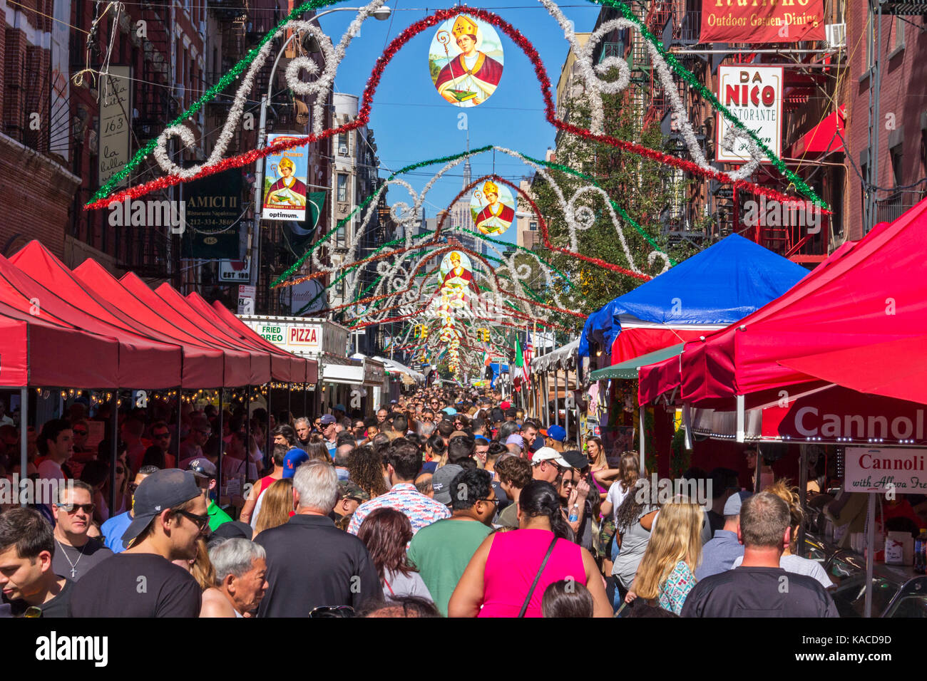
POLYGON ((781 568, 738 567, 705 577, 682 606, 683 617, 839 617, 818 580, 781 568))

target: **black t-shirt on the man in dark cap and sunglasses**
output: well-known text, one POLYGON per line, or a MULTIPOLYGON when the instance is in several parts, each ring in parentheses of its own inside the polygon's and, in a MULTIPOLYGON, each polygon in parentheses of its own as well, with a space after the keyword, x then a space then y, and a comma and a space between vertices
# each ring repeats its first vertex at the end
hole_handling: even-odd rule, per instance
POLYGON ((74 585, 72 617, 198 617, 202 590, 153 553, 117 553, 74 585))

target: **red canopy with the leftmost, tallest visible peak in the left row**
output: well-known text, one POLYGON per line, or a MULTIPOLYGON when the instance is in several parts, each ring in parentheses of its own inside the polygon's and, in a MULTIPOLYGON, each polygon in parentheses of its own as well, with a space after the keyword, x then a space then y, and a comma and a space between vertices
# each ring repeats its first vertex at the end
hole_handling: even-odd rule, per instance
MULTIPOLYGON (((40 284, 53 289, 70 300, 81 309, 94 314, 114 326, 136 334, 145 335, 162 343, 177 345, 184 353, 182 371, 182 384, 184 386, 214 387, 222 385, 222 351, 203 347, 201 341, 192 337, 182 337, 174 329, 159 329, 156 325, 146 324, 148 321, 157 323, 150 310, 144 306, 142 309, 133 309, 131 312, 118 300, 114 294, 122 290, 116 280, 107 271, 103 270, 94 260, 87 269, 102 271, 111 283, 103 292, 95 291, 74 272, 65 267, 64 263, 37 241, 30 242, 11 259, 20 270, 28 273, 40 284)), ((124 290, 122 290, 124 294, 124 290)), ((123 296, 126 297, 126 296, 123 296)))

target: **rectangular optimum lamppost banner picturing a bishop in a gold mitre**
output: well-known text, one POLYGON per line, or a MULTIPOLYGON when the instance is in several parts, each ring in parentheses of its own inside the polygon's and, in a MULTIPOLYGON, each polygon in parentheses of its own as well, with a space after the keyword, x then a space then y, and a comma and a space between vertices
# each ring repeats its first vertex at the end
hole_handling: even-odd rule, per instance
MULTIPOLYGON (((297 135, 270 134, 267 144, 298 139, 297 135)), ((309 146, 294 146, 267 157, 264 167, 264 205, 262 220, 304 221, 306 219, 306 175, 309 146)))

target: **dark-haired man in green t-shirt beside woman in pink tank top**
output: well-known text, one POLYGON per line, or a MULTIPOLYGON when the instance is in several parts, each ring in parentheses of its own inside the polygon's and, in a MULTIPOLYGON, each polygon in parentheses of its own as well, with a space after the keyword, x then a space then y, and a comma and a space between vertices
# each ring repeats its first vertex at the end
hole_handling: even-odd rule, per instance
POLYGON ((496 512, 492 475, 464 469, 451 481, 451 517, 426 525, 412 538, 409 561, 415 565, 438 611, 447 617, 448 601, 483 539, 492 532, 496 512))

